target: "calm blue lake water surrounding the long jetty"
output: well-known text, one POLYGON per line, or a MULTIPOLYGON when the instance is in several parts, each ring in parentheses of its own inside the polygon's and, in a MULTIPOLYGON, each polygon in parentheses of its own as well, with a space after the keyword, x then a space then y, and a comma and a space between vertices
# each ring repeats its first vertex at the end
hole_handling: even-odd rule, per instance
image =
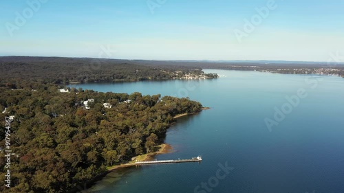
POLYGON ((222 77, 74 85, 103 92, 189 97, 211 107, 171 126, 165 142, 173 152, 156 157, 202 155, 202 163, 125 168, 87 191, 344 192, 344 78, 206 72, 222 77))

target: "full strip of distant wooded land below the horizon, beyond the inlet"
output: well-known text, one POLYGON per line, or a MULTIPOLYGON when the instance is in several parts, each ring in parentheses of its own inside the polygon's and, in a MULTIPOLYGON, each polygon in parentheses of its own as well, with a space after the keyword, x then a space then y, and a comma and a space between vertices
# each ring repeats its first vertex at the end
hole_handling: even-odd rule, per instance
MULTIPOLYGON (((263 71, 272 73, 316 74, 344 77, 344 63, 290 61, 211 61, 211 60, 117 60, 58 57, 0 57, 3 78, 21 76, 57 84, 69 82, 110 82, 114 80, 168 80, 185 74, 204 74, 202 69, 263 71), (181 71, 181 73, 175 73, 181 71)), ((208 78, 218 78, 204 74, 208 78)))

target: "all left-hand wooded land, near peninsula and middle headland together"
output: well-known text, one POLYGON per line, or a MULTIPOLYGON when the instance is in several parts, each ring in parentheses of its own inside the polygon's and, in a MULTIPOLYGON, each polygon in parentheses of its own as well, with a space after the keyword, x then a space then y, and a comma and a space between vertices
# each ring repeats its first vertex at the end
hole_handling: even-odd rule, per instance
MULTIPOLYGON (((204 74, 202 69, 120 63, 103 64, 105 69, 93 71, 81 62, 52 63, 36 58, 41 61, 24 63, 21 60, 25 57, 10 59, 0 59, 0 192, 73 190, 107 172, 109 166, 154 152, 176 115, 202 111, 202 104, 189 98, 101 93, 64 86, 71 81, 116 78, 164 80, 175 78, 171 75, 175 71, 199 77, 204 74), (12 151, 10 167, 4 158, 6 150, 12 151), (4 185, 8 170, 11 188, 4 185)), ((211 76, 215 78, 215 74, 211 76)))

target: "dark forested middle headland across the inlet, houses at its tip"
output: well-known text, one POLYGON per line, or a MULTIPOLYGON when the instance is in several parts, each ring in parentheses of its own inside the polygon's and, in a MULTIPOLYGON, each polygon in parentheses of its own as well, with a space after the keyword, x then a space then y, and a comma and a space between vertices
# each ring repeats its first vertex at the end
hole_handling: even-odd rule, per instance
MULTIPOLYGON (((73 82, 111 82, 116 80, 169 80, 185 74, 204 74, 200 67, 151 66, 133 60, 59 57, 0 57, 0 77, 6 82, 18 79, 69 84, 73 82), (175 73, 179 71, 180 73, 175 73)), ((208 78, 217 78, 208 74, 208 78)))

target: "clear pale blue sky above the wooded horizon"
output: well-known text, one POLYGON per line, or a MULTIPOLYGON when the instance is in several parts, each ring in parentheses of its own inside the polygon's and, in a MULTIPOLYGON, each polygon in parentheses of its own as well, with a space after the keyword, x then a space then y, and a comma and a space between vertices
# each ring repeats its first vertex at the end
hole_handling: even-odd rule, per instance
POLYGON ((0 5, 0 56, 294 61, 344 56, 344 0, 8 0, 0 5))

